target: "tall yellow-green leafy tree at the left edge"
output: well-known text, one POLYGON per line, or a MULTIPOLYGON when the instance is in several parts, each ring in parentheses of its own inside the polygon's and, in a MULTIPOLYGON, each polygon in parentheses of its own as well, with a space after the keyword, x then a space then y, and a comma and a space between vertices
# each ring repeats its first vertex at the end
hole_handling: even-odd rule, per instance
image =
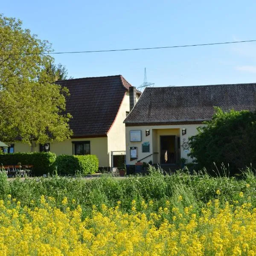
POLYGON ((68 90, 55 84, 48 41, 0 15, 0 140, 45 143, 72 134, 68 90))

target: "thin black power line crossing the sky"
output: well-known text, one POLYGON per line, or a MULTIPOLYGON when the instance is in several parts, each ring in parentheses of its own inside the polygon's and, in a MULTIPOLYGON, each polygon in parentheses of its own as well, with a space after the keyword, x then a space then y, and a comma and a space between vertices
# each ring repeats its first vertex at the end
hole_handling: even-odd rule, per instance
POLYGON ((1 54, 4 55, 40 55, 40 54, 65 54, 65 53, 90 53, 90 52, 121 52, 121 51, 137 51, 137 50, 151 50, 151 49, 167 49, 167 48, 179 48, 179 47, 195 47, 195 46, 206 46, 216 44, 237 44, 255 42, 256 40, 245 40, 245 41, 232 41, 232 42, 221 42, 221 43, 209 43, 209 44, 187 44, 187 45, 175 45, 175 46, 164 46, 164 47, 147 47, 147 48, 132 48, 132 49, 112 49, 112 50, 96 50, 96 51, 80 51, 80 52, 42 52, 42 53, 16 53, 16 54, 1 54))

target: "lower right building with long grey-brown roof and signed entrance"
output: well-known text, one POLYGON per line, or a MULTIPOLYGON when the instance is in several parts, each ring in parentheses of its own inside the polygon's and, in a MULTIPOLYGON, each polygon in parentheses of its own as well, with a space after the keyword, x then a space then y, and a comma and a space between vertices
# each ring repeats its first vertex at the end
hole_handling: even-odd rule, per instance
POLYGON ((181 157, 191 162, 189 137, 212 118, 214 106, 255 111, 256 84, 145 88, 124 121, 126 164, 151 161, 175 169, 181 157))

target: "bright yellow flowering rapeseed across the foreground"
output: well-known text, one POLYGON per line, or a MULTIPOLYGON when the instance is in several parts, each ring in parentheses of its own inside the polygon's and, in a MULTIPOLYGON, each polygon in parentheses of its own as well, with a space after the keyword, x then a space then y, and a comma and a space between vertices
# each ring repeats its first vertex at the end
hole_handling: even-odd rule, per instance
POLYGON ((142 201, 141 211, 131 203, 129 213, 120 210, 120 201, 100 211, 93 205, 82 219, 80 205, 68 206, 75 200, 63 198, 59 209, 55 198, 42 195, 38 206, 21 207, 8 195, 0 200, 0 255, 256 255, 256 208, 250 203, 220 207, 215 199, 198 210, 165 201, 157 212, 151 212, 152 201, 142 201))

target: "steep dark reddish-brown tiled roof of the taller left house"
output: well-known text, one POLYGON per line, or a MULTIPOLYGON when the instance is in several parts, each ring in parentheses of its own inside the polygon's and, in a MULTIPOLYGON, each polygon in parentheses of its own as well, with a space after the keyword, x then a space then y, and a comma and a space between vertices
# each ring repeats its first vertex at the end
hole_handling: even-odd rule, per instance
POLYGON ((107 134, 122 103, 129 84, 122 76, 88 77, 57 81, 70 91, 67 112, 73 118, 73 137, 107 134))

